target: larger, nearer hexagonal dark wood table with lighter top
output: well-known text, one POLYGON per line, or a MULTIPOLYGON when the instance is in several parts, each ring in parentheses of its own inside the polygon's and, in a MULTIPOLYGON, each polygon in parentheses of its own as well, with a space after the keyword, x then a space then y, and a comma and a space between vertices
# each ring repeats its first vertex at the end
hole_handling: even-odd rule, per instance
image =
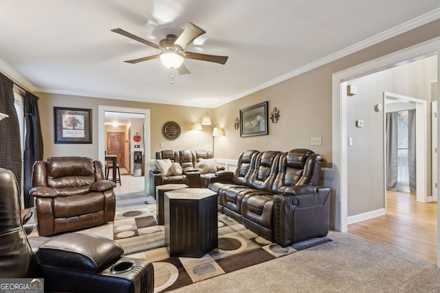
POLYGON ((219 244, 217 193, 207 188, 166 191, 164 222, 170 257, 203 257, 219 244))

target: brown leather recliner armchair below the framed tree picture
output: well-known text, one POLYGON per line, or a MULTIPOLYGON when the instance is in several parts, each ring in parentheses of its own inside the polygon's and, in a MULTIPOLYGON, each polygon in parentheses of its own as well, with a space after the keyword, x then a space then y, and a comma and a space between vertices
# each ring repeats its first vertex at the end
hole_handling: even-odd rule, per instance
POLYGON ((115 183, 102 163, 79 156, 34 163, 30 196, 36 198, 39 235, 47 236, 111 222, 115 183))

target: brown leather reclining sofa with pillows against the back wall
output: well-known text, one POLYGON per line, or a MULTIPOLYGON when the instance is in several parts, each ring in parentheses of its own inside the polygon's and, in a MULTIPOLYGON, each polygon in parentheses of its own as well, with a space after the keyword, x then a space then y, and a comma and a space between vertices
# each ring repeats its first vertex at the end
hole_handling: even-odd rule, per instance
POLYGON ((215 176, 215 172, 224 170, 223 166, 211 167, 208 172, 200 172, 197 163, 201 159, 213 159, 212 152, 206 150, 163 150, 155 153, 157 160, 170 160, 171 163, 178 163, 181 172, 173 174, 166 170, 161 170, 156 164, 155 169, 150 169, 150 194, 155 195, 156 187, 165 184, 186 184, 189 187, 199 188, 208 187, 208 180, 215 176))

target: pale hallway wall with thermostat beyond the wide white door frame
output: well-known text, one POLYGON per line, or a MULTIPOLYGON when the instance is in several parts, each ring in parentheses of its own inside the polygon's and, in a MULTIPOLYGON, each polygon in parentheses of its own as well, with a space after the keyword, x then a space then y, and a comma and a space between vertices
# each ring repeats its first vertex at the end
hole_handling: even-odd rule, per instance
POLYGON ((437 66, 433 71, 432 64, 437 65, 437 56, 348 82, 358 88, 358 94, 347 99, 347 108, 350 109, 347 115, 347 133, 353 138, 353 145, 347 148, 349 216, 385 208, 384 112, 376 112, 374 109, 375 104, 383 103, 384 91, 428 101, 427 129, 424 131, 427 138, 426 187, 428 195, 431 195, 430 81, 437 79, 437 66), (364 127, 356 127, 357 120, 364 121, 364 127))

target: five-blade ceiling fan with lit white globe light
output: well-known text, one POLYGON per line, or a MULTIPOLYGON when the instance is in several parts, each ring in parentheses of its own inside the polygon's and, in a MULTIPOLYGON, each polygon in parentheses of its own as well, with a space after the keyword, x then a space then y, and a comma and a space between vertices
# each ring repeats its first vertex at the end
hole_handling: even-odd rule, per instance
POLYGON ((200 27, 192 23, 186 24, 186 28, 184 32, 180 34, 180 36, 176 36, 175 34, 168 34, 166 38, 160 40, 159 45, 156 45, 149 40, 144 40, 143 38, 135 36, 134 34, 130 34, 129 32, 126 32, 120 28, 115 28, 111 30, 111 32, 121 34, 122 36, 137 40, 140 43, 144 43, 145 45, 162 51, 161 53, 153 56, 124 61, 131 64, 160 58, 162 63, 169 69, 177 69, 177 72, 179 72, 179 74, 189 74, 190 71, 184 65, 184 58, 215 62, 222 65, 224 65, 228 60, 228 56, 215 56, 185 51, 186 46, 188 46, 193 40, 195 40, 195 38, 206 33, 205 30, 202 30, 200 27))

